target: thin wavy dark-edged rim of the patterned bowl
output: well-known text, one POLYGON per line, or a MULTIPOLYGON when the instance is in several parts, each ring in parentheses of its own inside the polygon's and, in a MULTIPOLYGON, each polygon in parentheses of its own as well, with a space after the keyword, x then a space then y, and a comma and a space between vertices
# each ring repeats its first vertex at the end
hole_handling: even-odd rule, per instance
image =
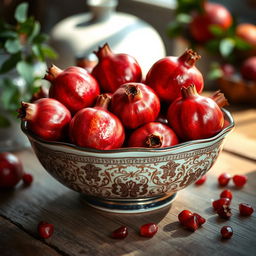
POLYGON ((215 141, 218 138, 222 137, 227 132, 231 131, 235 126, 234 119, 233 119, 231 113, 228 110, 226 110, 224 108, 221 108, 221 110, 224 112, 225 119, 228 120, 229 125, 226 126, 224 129, 222 129, 219 133, 217 133, 216 135, 214 135, 210 138, 185 141, 185 142, 181 142, 179 144, 176 144, 174 146, 164 147, 164 148, 153 148, 153 149, 151 149, 151 148, 140 148, 140 147, 126 147, 126 148, 118 148, 118 149, 110 149, 110 150, 100 150, 100 149, 79 147, 79 146, 76 146, 76 145, 74 145, 72 143, 69 143, 69 142, 47 141, 47 140, 42 139, 42 138, 38 137, 37 135, 33 134, 31 131, 29 131, 27 129, 27 121, 24 121, 24 120, 21 121, 21 129, 29 139, 32 138, 33 140, 38 141, 39 143, 48 144, 48 145, 52 145, 52 146, 64 146, 64 147, 71 148, 71 149, 77 150, 77 151, 82 151, 82 152, 104 153, 105 154, 105 153, 126 153, 126 152, 169 151, 169 150, 175 150, 175 149, 183 148, 183 147, 186 147, 186 146, 191 146, 191 145, 194 145, 194 144, 208 143, 208 142, 211 142, 211 141, 215 141))

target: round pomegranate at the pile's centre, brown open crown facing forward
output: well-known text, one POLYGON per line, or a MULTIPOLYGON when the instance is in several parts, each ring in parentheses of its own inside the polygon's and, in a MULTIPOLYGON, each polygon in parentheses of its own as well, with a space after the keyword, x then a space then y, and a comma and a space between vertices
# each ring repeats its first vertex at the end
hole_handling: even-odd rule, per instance
POLYGON ((125 128, 135 129, 156 120, 160 112, 160 101, 147 85, 126 83, 113 93, 111 112, 119 117, 125 128))

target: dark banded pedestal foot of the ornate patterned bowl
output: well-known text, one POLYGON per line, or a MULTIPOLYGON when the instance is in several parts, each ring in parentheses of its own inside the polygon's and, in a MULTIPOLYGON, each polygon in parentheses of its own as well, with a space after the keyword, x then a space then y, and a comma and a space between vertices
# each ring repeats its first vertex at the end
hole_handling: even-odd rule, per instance
POLYGON ((82 195, 82 198, 90 206, 113 213, 140 213, 158 210, 170 205, 177 195, 176 193, 142 199, 103 199, 82 195))

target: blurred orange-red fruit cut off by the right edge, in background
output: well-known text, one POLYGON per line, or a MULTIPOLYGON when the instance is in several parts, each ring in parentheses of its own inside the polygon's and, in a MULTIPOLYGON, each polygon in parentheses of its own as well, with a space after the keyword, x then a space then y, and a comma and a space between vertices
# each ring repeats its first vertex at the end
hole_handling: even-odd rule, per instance
POLYGON ((256 26, 250 23, 238 24, 236 35, 256 49, 256 26))

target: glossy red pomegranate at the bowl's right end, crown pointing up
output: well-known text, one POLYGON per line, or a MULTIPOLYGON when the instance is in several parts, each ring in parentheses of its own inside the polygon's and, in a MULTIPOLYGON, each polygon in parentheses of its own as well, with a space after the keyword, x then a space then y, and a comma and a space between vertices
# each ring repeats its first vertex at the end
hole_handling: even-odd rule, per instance
POLYGON ((194 85, 182 87, 181 93, 182 97, 170 105, 167 113, 168 122, 180 139, 205 139, 221 131, 224 116, 219 106, 226 104, 223 94, 204 97, 194 85))

